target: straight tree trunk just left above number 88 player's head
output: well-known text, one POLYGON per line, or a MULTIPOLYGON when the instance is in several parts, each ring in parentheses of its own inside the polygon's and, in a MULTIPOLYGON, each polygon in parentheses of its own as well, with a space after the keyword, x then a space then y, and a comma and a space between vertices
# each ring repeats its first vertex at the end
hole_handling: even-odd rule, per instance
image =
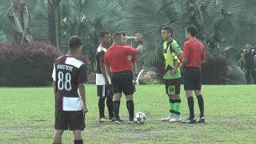
POLYGON ((61 0, 48 0, 48 38, 50 44, 59 47, 61 32, 61 0))

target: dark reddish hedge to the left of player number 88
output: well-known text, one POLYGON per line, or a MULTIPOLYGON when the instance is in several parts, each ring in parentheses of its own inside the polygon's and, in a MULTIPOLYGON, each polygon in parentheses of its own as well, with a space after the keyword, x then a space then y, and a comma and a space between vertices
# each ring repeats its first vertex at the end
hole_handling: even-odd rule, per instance
POLYGON ((54 59, 61 52, 50 44, 0 43, 0 86, 46 86, 52 82, 54 59))

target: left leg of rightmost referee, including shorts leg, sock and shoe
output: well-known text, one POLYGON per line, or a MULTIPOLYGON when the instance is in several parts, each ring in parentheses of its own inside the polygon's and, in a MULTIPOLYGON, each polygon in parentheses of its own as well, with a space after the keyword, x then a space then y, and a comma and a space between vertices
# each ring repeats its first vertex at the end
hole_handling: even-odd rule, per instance
POLYGON ((186 119, 186 121, 182 123, 195 123, 196 119, 194 118, 194 98, 192 95, 192 90, 194 90, 193 86, 193 74, 194 71, 190 68, 186 68, 184 71, 184 90, 186 90, 186 98, 187 103, 190 110, 190 117, 186 119))

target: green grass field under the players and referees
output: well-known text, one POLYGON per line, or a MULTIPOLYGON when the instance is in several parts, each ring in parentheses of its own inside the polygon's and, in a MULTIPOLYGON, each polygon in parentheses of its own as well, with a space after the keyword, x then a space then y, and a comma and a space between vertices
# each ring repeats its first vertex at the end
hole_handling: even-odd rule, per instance
MULTIPOLYGON (((206 123, 187 125, 161 122, 169 111, 164 86, 138 86, 135 112, 146 114, 143 125, 98 122, 95 86, 86 86, 89 113, 86 115, 85 143, 256 143, 255 86, 203 86, 206 123)), ((0 88, 0 143, 52 143, 54 98, 51 87, 0 88)), ((188 116, 182 90, 182 119, 188 116)), ((195 112, 198 104, 195 100, 195 112)), ((121 117, 126 120, 126 100, 121 117)), ((63 143, 73 143, 66 131, 63 143)))

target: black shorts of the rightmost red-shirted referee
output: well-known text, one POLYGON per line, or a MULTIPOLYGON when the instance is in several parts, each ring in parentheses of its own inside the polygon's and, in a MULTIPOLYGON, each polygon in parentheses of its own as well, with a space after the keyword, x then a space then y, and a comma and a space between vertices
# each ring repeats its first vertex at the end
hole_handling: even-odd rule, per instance
POLYGON ((201 68, 186 67, 184 70, 184 89, 201 90, 201 68))

